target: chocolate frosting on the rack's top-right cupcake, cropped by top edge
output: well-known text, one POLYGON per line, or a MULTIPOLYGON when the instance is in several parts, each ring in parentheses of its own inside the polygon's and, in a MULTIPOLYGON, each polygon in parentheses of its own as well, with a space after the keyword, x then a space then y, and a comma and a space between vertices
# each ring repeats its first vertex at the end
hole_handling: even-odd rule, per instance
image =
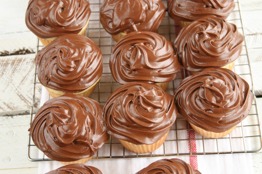
POLYGON ((235 8, 234 0, 168 0, 168 15, 179 21, 194 21, 205 16, 226 19, 235 8))

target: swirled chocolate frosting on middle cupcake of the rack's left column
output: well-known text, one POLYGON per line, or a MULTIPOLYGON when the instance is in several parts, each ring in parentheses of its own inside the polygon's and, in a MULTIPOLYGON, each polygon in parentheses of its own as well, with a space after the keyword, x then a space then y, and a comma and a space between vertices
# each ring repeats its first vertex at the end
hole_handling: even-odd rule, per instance
POLYGON ((76 93, 102 75, 102 53, 89 38, 79 34, 57 37, 36 55, 38 79, 45 87, 76 93))

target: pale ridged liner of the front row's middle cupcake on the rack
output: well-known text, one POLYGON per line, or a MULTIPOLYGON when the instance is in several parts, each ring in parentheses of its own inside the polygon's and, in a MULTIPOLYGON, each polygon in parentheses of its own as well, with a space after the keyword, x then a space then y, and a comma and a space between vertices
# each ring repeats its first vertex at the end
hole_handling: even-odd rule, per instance
POLYGON ((164 135, 160 140, 150 145, 146 145, 146 144, 135 145, 127 141, 123 141, 119 139, 118 140, 130 152, 143 154, 143 153, 153 152, 154 150, 158 149, 165 142, 167 135, 168 133, 166 133, 166 135, 164 135))

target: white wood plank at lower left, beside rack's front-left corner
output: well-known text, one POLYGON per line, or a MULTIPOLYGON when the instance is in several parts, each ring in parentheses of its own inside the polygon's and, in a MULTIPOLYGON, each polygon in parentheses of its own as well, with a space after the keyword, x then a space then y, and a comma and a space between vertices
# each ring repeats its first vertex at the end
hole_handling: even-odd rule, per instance
POLYGON ((0 117, 0 169, 38 167, 27 159, 29 115, 0 117))

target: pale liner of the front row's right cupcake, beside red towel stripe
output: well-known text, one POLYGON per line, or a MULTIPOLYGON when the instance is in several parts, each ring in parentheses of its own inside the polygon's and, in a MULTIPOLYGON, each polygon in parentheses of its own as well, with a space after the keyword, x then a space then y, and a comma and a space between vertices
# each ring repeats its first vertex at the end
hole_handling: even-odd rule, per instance
POLYGON ((216 133, 216 132, 210 132, 210 131, 206 131, 202 128, 199 128, 197 126, 195 126, 192 123, 189 123, 191 125, 191 127, 200 135, 205 136, 205 137, 210 137, 210 138, 220 138, 223 136, 226 136, 227 134, 230 134, 232 132, 232 130, 234 130, 236 128, 237 125, 235 125, 233 128, 225 131, 225 132, 221 132, 221 133, 216 133))

